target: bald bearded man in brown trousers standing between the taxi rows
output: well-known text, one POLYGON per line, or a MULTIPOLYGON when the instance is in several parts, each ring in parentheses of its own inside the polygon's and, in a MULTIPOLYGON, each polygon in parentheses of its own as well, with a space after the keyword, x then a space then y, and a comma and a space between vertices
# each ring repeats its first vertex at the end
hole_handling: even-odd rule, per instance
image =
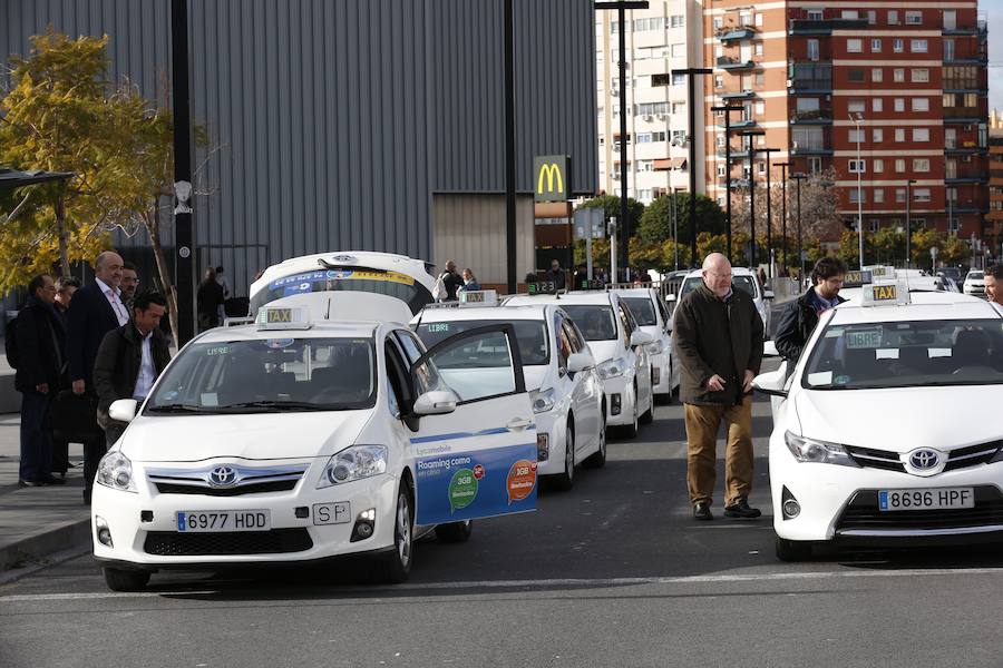
POLYGON ((731 285, 731 263, 720 253, 703 261, 703 285, 675 308, 672 344, 682 363, 685 404, 686 487, 693 518, 712 520, 714 453, 721 420, 724 451, 724 517, 758 518, 752 490, 752 379, 762 362, 762 320, 752 297, 731 285))

